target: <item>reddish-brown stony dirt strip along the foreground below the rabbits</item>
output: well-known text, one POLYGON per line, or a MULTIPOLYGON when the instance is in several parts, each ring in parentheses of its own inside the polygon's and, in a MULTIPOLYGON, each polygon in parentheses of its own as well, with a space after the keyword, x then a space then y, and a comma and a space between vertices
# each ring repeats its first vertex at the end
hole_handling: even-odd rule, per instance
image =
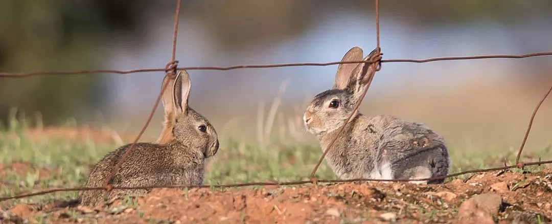
POLYGON ((0 210, 0 218, 6 223, 457 223, 460 205, 484 193, 502 198, 490 223, 545 223, 552 217, 552 169, 545 169, 476 174, 466 182, 456 179, 439 185, 155 189, 135 200, 117 199, 94 208, 17 205, 7 212, 0 210))

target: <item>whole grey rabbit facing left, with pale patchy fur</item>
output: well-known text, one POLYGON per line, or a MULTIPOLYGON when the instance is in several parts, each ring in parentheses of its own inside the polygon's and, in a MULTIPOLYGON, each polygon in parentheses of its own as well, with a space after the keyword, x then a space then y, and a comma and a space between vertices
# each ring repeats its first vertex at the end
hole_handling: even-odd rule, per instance
MULTIPOLYGON (((353 47, 341 61, 362 61, 362 56, 362 49, 353 47)), ((340 64, 333 88, 312 99, 303 121, 306 129, 319 139, 322 151, 353 113, 378 63, 340 64)), ((426 125, 388 115, 368 117, 360 112, 347 122, 326 160, 341 179, 431 178, 447 175, 450 166, 443 137, 426 125)), ((443 183, 443 180, 413 183, 443 183)))

